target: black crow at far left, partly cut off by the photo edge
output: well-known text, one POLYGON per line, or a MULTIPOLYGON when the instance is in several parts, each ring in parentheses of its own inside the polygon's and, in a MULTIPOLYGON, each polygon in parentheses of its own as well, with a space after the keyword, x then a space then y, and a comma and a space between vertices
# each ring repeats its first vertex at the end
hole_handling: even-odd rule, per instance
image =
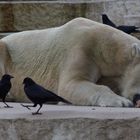
POLYGON ((11 106, 9 106, 5 102, 5 98, 12 86, 11 81, 10 81, 11 78, 14 78, 14 77, 9 74, 4 74, 2 76, 2 79, 0 80, 0 98, 2 99, 3 103, 6 105, 5 107, 7 107, 7 108, 11 108, 11 106))

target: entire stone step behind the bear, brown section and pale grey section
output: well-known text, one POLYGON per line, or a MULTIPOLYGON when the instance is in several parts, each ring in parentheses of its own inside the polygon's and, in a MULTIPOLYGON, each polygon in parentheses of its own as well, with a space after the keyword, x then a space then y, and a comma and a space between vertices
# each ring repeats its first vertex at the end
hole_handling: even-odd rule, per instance
POLYGON ((54 27, 80 16, 102 22, 102 13, 120 25, 125 15, 140 13, 139 7, 139 0, 0 1, 0 31, 54 27))

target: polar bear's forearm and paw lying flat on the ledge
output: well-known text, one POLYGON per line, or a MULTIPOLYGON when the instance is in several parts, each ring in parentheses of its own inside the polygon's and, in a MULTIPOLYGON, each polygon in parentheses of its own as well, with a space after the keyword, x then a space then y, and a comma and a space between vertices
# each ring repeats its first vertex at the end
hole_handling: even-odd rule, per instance
POLYGON ((118 96, 110 88, 89 81, 69 81, 61 88, 60 95, 77 105, 129 107, 132 102, 118 96))

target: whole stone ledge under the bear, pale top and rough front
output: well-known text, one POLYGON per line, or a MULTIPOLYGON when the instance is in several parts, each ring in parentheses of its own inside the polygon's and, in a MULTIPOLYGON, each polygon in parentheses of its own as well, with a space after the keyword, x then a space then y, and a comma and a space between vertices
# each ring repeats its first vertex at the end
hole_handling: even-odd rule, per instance
POLYGON ((139 108, 44 105, 43 115, 0 103, 1 140, 139 140, 139 108), (94 110, 93 110, 94 108, 94 110))

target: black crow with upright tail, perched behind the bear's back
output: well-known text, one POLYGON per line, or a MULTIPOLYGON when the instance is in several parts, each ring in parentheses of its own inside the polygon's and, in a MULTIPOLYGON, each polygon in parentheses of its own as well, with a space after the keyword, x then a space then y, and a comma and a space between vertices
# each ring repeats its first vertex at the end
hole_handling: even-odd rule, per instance
POLYGON ((121 30, 127 34, 131 34, 131 33, 137 33, 140 32, 138 29, 140 27, 136 27, 136 26, 126 26, 126 25, 120 25, 120 26, 116 26, 109 18, 106 14, 102 14, 102 21, 103 24, 109 25, 111 27, 114 27, 118 30, 121 30))

